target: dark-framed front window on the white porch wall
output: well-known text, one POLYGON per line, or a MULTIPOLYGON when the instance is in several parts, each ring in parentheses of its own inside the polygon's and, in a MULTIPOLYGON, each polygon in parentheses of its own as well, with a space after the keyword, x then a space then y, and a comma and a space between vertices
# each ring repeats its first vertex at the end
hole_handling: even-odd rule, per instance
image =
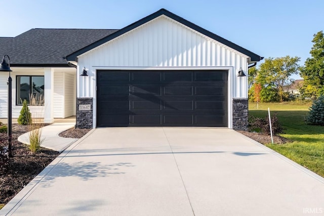
POLYGON ((35 99, 44 99, 44 76, 17 76, 17 105, 22 105, 32 95, 35 99))

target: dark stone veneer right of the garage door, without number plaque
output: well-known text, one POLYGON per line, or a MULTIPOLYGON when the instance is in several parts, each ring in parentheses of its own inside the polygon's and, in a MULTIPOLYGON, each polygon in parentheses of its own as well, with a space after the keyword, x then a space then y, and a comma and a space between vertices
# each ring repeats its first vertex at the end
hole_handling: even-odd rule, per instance
POLYGON ((246 98, 233 98, 233 129, 248 131, 249 101, 246 98))

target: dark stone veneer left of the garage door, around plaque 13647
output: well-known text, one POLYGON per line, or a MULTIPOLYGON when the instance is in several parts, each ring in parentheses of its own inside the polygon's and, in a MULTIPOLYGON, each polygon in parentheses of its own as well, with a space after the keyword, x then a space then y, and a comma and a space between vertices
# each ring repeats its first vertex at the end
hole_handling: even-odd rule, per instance
POLYGON ((76 128, 93 127, 93 99, 77 98, 76 99, 76 128), (79 105, 91 105, 90 110, 79 110, 79 105))

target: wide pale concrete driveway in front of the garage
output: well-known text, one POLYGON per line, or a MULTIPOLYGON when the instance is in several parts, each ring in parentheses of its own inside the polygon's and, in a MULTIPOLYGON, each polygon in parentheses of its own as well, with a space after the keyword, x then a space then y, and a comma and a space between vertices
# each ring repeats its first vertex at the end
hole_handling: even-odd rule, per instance
POLYGON ((226 128, 97 128, 14 215, 324 215, 324 179, 226 128))

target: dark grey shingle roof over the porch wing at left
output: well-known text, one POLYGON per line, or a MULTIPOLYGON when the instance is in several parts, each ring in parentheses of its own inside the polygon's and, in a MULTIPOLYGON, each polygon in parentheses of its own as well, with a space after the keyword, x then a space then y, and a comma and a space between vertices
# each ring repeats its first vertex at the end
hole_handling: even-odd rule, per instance
POLYGON ((115 29, 30 29, 16 37, 0 37, 0 56, 11 66, 67 66, 63 57, 115 32, 115 29))

